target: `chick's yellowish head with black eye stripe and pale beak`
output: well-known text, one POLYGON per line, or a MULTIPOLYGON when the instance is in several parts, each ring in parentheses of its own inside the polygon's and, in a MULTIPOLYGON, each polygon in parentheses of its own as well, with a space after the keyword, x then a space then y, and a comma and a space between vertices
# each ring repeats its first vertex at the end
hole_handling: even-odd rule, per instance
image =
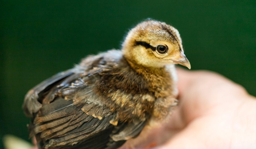
POLYGON ((147 20, 139 23, 129 31, 122 46, 125 58, 139 65, 181 64, 190 69, 178 30, 164 22, 147 20))

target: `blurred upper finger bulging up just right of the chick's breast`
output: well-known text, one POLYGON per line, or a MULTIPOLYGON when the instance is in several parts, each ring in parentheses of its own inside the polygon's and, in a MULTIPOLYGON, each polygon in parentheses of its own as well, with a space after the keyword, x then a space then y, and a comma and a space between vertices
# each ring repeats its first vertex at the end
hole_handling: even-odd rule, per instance
POLYGON ((244 88, 214 72, 177 68, 177 74, 180 116, 186 124, 214 107, 231 104, 238 96, 247 94, 244 88))

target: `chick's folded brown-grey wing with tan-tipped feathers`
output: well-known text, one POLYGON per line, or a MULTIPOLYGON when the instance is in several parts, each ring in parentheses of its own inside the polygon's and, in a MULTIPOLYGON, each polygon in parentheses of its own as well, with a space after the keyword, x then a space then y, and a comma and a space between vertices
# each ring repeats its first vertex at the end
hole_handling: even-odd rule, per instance
MULTIPOLYGON (((103 64, 100 60, 97 63, 103 64)), ((102 100, 110 99, 100 97, 93 89, 99 80, 95 74, 103 69, 92 69, 74 68, 56 74, 25 96, 25 113, 34 116, 29 125, 30 135, 36 136, 38 146, 114 149, 143 129, 146 121, 135 118, 120 122, 116 119, 117 112, 102 104, 102 100), (113 120, 118 124, 112 123, 113 120)))

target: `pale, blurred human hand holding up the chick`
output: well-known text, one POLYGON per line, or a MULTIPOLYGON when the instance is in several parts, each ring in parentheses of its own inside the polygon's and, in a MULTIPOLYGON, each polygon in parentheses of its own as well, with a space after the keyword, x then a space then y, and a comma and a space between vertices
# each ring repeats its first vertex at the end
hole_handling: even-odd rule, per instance
MULTIPOLYGON (((150 130, 146 141, 136 148, 150 148, 152 143, 162 144, 155 146, 157 149, 256 147, 255 97, 214 72, 178 68, 177 73, 179 105, 169 122, 150 130)), ((131 141, 138 142, 138 139, 131 141)), ((121 148, 127 144, 129 141, 121 148)))

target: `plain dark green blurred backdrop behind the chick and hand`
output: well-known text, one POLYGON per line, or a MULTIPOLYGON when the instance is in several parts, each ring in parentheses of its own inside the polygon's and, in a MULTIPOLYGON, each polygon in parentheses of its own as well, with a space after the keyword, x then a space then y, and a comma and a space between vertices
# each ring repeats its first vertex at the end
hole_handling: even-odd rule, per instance
POLYGON ((0 138, 28 139, 21 105, 31 87, 119 48, 148 17, 180 31, 192 69, 221 73, 256 95, 256 1, 1 1, 0 14, 0 138))

